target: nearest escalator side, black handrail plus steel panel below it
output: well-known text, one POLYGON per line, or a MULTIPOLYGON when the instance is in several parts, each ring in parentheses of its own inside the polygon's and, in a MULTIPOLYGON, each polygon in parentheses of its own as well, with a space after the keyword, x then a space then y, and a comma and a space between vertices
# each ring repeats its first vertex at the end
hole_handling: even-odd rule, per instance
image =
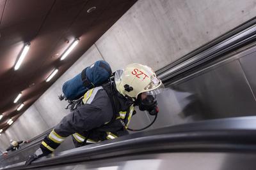
POLYGON ((208 120, 130 134, 2 169, 254 169, 256 117, 208 120), (207 167, 207 168, 206 168, 207 167))

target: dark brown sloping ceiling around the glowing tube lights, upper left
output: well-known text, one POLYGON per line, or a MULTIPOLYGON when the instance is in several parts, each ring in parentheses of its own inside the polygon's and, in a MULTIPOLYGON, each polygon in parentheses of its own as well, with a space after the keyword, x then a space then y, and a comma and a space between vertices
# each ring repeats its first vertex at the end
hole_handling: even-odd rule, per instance
POLYGON ((83 55, 136 0, 0 0, 0 129, 6 130, 52 83, 83 55), (93 6, 95 10, 88 13, 93 6), (76 48, 60 60, 67 47, 76 48), (24 44, 31 46, 20 68, 14 66, 24 44), (46 78, 54 68, 54 78, 46 78), (15 97, 22 92, 18 103, 15 97), (21 103, 22 110, 17 111, 21 103))

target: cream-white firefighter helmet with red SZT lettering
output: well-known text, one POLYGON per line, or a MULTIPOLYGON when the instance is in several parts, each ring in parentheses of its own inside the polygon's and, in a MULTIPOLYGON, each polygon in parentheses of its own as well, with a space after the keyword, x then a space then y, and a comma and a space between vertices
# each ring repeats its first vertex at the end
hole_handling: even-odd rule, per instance
POLYGON ((116 89, 123 96, 129 96, 137 99, 143 92, 159 93, 163 83, 157 78, 156 73, 142 64, 129 64, 123 70, 115 73, 116 89))

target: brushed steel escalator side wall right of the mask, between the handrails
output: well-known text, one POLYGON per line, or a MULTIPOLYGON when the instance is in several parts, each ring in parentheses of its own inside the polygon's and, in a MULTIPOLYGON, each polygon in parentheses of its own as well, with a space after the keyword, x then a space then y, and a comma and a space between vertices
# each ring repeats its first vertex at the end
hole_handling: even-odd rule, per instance
MULTIPOLYGON (((252 89, 256 92, 255 48, 234 54, 230 59, 167 87, 157 96, 160 110, 157 120, 146 131, 209 118, 255 115, 256 103, 252 94, 252 89)), ((145 118, 147 114, 138 111, 137 115, 131 126, 150 124, 145 118)), ((147 116, 151 121, 154 119, 147 116)))

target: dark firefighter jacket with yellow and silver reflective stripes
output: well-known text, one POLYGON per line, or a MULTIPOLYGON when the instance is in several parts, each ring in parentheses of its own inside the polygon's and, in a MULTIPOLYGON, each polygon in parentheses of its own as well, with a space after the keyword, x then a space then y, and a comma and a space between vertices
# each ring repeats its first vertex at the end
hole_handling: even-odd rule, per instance
POLYGON ((51 153, 69 135, 79 147, 128 134, 127 125, 134 113, 132 105, 115 89, 114 83, 90 89, 77 108, 44 138, 40 148, 51 153))

